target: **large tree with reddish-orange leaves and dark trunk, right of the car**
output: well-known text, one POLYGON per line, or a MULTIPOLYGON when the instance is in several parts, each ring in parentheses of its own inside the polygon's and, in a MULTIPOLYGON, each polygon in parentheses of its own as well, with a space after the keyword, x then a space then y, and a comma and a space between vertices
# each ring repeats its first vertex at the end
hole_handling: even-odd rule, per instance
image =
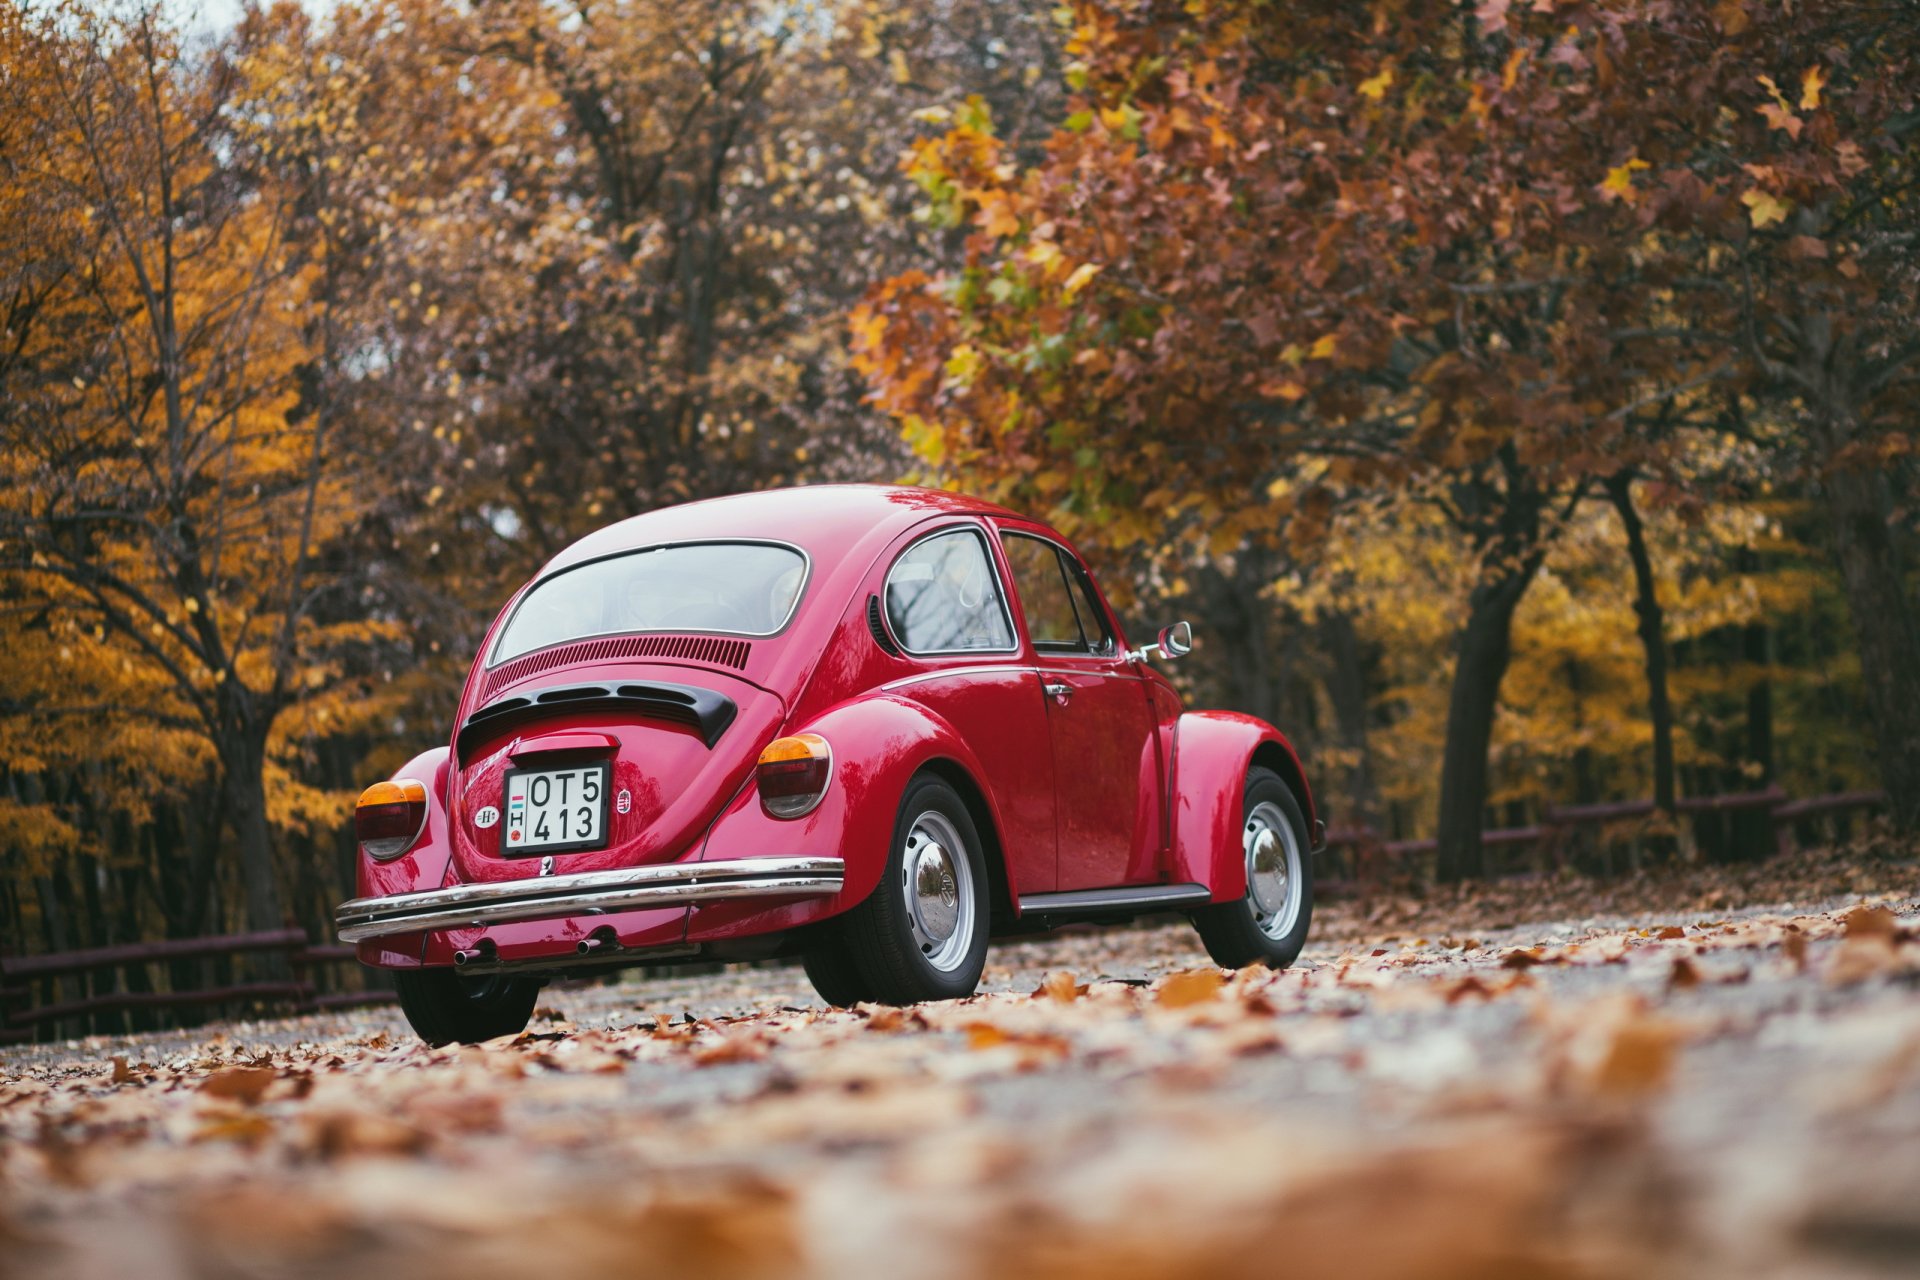
POLYGON ((1169 472, 1229 547, 1311 537, 1342 491, 1444 509, 1480 574, 1440 869, 1476 873, 1511 620, 1557 532, 1640 422, 1751 388, 1726 276, 1774 186, 1899 182, 1862 150, 1910 102, 1885 23, 1805 163, 1730 106, 1870 10, 1081 4, 1044 161, 1010 165, 983 109, 918 146, 929 217, 972 236, 854 313, 862 368, 929 459, 1119 545, 1156 537, 1169 472))

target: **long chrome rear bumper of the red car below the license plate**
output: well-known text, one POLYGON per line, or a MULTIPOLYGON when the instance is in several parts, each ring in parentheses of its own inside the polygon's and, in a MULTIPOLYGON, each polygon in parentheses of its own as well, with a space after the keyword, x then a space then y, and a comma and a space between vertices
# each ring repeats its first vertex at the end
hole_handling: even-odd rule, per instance
POLYGON ((334 927, 342 942, 359 942, 390 933, 467 929, 511 919, 685 906, 720 898, 810 898, 837 894, 845 871, 839 858, 735 858, 541 875, 388 898, 353 898, 334 908, 334 927))

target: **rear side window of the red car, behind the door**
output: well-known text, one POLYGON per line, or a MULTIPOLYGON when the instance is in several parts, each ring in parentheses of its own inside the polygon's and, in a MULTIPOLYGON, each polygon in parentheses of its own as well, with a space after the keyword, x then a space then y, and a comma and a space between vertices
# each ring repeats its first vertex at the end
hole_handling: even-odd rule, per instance
POLYGON ((902 551, 887 572, 887 626, 914 654, 1014 649, 985 539, 962 528, 902 551))

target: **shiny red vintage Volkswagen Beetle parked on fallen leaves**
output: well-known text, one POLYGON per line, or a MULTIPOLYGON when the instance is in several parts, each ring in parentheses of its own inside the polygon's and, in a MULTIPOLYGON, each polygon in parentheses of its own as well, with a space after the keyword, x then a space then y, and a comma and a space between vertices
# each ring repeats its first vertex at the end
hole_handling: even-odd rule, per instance
POLYGON ((359 798, 340 936, 434 1044, 549 977, 799 954, 833 1004, 970 994, 989 935, 1185 912, 1286 965, 1321 823, 1273 725, 1183 712, 1056 532, 933 489, 655 510, 488 631, 453 741, 359 798))

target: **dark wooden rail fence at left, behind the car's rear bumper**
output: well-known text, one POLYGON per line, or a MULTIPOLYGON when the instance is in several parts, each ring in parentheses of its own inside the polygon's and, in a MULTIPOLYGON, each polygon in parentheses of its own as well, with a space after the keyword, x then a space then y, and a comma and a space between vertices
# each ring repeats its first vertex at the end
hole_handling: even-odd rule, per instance
POLYGON ((351 946, 313 946, 301 929, 0 956, 0 1042, 35 1029, 58 1036, 63 1025, 69 1034, 150 1031, 163 1021, 157 1009, 190 1025, 248 1006, 313 1011, 394 998, 348 988, 334 971, 351 963, 351 946), (238 977, 242 961, 252 979, 238 977))

